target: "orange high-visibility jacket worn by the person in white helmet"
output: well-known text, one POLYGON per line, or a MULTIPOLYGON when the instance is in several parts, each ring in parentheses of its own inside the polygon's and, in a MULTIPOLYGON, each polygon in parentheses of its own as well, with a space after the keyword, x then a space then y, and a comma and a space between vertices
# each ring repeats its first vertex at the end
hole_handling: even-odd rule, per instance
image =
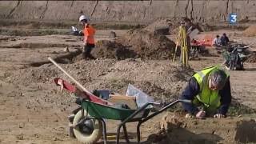
POLYGON ((93 26, 86 26, 85 29, 83 30, 84 34, 84 42, 89 43, 89 44, 94 44, 94 34, 95 34, 95 29, 93 26))

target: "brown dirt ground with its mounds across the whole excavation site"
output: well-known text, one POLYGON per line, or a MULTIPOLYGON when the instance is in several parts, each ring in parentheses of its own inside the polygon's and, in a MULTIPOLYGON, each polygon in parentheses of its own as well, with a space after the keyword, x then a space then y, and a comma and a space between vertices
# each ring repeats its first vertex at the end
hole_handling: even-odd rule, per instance
MULTIPOLYGON (((184 69, 171 61, 176 35, 146 29, 114 30, 117 38, 109 38, 110 31, 96 33, 98 43, 92 51, 96 60, 82 59, 81 38, 70 34, 0 35, 0 143, 79 143, 68 136, 67 118, 77 105, 70 94, 60 94, 53 82, 54 78, 70 79, 48 57, 87 90, 126 94, 130 83, 154 100, 166 102, 178 98, 194 71, 224 61, 217 50, 206 47, 209 54, 189 61, 190 69, 184 69)), ((248 37, 242 30, 201 34, 224 32, 230 40, 250 44, 250 51, 256 51, 256 37, 248 37)), ((255 54, 244 65, 245 70, 229 71, 233 102, 227 118, 185 118, 180 106, 175 106, 142 125, 142 142, 256 143, 255 54)), ((106 123, 107 132, 114 133, 118 121, 106 123)), ((129 123, 127 128, 135 143, 136 126, 129 123)))

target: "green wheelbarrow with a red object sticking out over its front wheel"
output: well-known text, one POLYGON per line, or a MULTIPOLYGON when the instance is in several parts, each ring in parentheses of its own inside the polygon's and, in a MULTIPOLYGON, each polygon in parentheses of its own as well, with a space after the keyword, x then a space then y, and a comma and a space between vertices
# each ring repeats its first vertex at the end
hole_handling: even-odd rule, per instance
POLYGON ((170 102, 163 106, 160 110, 150 113, 154 106, 159 106, 161 104, 157 102, 147 102, 137 110, 116 107, 102 98, 98 98, 93 94, 88 94, 85 91, 78 90, 75 86, 61 78, 55 78, 54 82, 58 86, 61 86, 62 89, 70 91, 79 98, 79 102, 77 103, 80 106, 77 110, 74 110, 75 116, 71 127, 74 130, 74 136, 78 138, 78 141, 83 143, 97 142, 103 136, 104 144, 106 144, 106 122, 104 119, 121 121, 117 128, 117 144, 119 143, 121 127, 123 128, 126 142, 129 143, 130 141, 126 130, 126 123, 138 122, 137 138, 138 143, 140 143, 140 126, 142 123, 158 114, 161 114, 163 111, 174 106, 178 102, 190 102, 187 100, 177 99, 174 102, 170 102))

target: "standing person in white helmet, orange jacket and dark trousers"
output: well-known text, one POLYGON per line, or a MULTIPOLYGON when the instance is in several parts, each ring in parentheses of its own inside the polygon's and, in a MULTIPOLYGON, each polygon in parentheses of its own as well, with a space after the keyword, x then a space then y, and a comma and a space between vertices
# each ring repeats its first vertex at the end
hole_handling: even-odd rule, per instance
POLYGON ((82 50, 83 58, 95 59, 90 54, 90 51, 95 47, 95 42, 94 42, 95 29, 93 26, 90 26, 89 18, 86 18, 85 15, 80 16, 79 22, 81 22, 81 24, 84 28, 84 30, 82 31, 82 33, 84 35, 83 50, 82 50))

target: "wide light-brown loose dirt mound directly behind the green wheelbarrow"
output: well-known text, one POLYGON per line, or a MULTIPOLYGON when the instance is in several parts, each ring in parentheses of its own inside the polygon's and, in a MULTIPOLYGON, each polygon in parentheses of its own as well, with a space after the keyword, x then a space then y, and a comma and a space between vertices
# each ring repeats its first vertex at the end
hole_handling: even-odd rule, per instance
MULTIPOLYGON (((139 58, 122 61, 82 60, 60 65, 86 86, 87 90, 113 90, 119 94, 126 94, 128 84, 132 84, 156 100, 168 101, 178 97, 193 73, 192 70, 184 70, 170 61, 142 61, 139 58)), ((7 82, 23 86, 37 82, 49 83, 56 77, 70 81, 70 78, 52 64, 5 74, 7 82)))

